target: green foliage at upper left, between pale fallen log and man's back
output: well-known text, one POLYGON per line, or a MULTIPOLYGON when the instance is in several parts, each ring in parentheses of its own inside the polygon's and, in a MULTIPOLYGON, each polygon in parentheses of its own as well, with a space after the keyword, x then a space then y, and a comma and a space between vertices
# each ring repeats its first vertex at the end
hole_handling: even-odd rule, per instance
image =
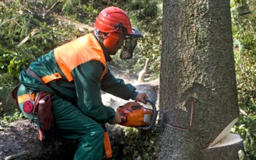
POLYGON ((33 6, 23 1, 0 2, 0 71, 8 72, 16 79, 19 72, 36 58, 83 34, 72 25, 62 24, 54 15, 43 17, 35 11, 33 14, 26 13, 27 8, 41 7, 46 1, 40 2, 32 3, 33 6), (18 46, 27 36, 30 39, 18 46))

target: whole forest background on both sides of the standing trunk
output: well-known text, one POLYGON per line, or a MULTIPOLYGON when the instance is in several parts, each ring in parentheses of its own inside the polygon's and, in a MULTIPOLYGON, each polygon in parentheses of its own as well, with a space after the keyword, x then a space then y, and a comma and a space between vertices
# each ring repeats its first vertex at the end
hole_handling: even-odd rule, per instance
MULTIPOLYGON (((240 159, 256 159, 256 0, 231 0, 230 5, 241 113, 231 132, 243 138, 245 152, 240 153, 240 159)), ((56 46, 92 31, 100 10, 108 6, 124 9, 132 25, 145 37, 138 42, 134 58, 121 61, 116 55, 110 65, 138 73, 150 58, 148 81, 159 77, 161 0, 4 0, 0 2, 0 130, 2 124, 24 118, 11 96, 19 72, 56 46)), ((147 146, 147 150, 134 153, 140 152, 141 158, 147 158, 154 150, 148 144, 133 146, 147 146)))

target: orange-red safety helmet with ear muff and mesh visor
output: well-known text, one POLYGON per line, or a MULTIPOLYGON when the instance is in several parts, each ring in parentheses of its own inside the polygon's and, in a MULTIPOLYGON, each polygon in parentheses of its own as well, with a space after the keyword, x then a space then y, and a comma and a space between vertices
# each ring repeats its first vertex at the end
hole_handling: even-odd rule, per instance
POLYGON ((140 31, 132 28, 130 19, 124 10, 118 7, 103 9, 95 20, 94 28, 103 33, 108 33, 103 42, 106 48, 111 48, 118 44, 119 34, 126 36, 125 45, 120 54, 120 58, 123 60, 132 57, 137 45, 137 39, 143 38, 140 31))

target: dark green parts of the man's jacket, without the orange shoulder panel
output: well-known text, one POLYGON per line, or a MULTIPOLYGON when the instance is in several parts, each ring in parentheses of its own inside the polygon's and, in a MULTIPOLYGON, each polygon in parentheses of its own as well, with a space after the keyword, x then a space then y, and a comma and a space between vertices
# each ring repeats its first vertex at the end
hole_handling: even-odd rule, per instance
MULTIPOLYGON (((101 43, 100 45, 106 62, 111 61, 104 46, 101 43)), ((100 90, 126 100, 135 99, 137 95, 134 86, 125 84, 122 79, 115 78, 108 68, 102 77, 105 66, 100 61, 92 60, 75 67, 71 72, 73 77, 71 82, 67 81, 65 74, 57 65, 54 50, 39 57, 37 61, 30 64, 29 68, 39 77, 58 72, 62 78, 50 81, 45 86, 30 74, 22 71, 20 82, 26 88, 58 94, 73 105, 79 106, 83 114, 101 123, 110 122, 115 116, 115 111, 102 103, 100 90)))

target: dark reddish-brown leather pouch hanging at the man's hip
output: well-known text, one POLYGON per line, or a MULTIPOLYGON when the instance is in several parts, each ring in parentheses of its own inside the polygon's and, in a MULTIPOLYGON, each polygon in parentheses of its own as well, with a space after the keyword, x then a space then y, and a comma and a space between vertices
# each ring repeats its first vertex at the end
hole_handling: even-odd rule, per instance
POLYGON ((54 136, 54 118, 51 111, 51 93, 38 92, 35 97, 33 113, 38 116, 38 138, 50 141, 54 136))

